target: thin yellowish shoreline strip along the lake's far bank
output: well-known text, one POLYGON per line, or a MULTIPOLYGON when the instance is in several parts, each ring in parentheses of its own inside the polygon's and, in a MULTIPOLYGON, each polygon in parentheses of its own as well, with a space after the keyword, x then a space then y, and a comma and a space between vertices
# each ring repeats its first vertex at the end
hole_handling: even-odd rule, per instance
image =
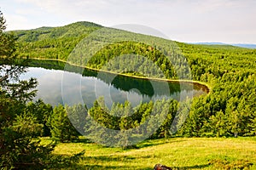
MULTIPOLYGON (((25 59, 25 58, 21 58, 21 59, 25 59)), ((63 59, 42 59, 42 58, 28 58, 28 59, 36 59, 36 60, 48 60, 48 61, 60 61, 63 63, 66 63, 68 65, 73 65, 73 66, 77 66, 80 68, 84 68, 84 69, 88 69, 90 71, 97 71, 97 72, 106 72, 109 74, 115 74, 115 75, 119 75, 119 76, 124 76, 124 77, 132 77, 132 78, 137 78, 137 79, 144 79, 144 80, 153 80, 153 81, 164 81, 164 82, 175 82, 175 83, 192 83, 196 86, 200 86, 203 87, 203 91, 206 91, 207 94, 209 94, 211 92, 211 86, 209 84, 207 84, 207 82, 199 82, 199 81, 194 81, 194 80, 172 80, 172 79, 166 79, 166 78, 155 78, 155 77, 138 77, 138 76, 132 76, 132 75, 127 75, 125 73, 115 73, 112 71, 102 71, 99 69, 95 69, 95 68, 91 68, 88 66, 82 66, 82 65, 76 65, 70 62, 67 62, 66 60, 63 59)))

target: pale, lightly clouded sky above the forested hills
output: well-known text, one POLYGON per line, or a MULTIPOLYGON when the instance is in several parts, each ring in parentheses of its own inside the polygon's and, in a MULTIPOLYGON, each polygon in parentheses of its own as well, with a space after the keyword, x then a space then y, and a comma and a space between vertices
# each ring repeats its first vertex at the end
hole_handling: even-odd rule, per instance
POLYGON ((255 0, 0 0, 8 30, 138 24, 180 42, 256 43, 255 0))

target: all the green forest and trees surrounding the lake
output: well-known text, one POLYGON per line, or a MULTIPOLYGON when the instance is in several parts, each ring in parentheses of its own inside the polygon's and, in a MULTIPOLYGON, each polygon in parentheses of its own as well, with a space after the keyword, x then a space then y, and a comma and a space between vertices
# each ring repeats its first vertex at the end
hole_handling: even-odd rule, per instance
MULTIPOLYGON (((94 129, 91 129, 90 124, 86 124, 91 118, 103 127, 122 131, 142 125, 148 117, 149 120, 166 117, 148 139, 256 136, 256 49, 228 45, 195 45, 118 31, 120 35, 129 37, 128 39, 145 37, 148 44, 138 42, 136 38, 133 41, 111 44, 106 42, 104 48, 89 52, 93 54, 90 59, 81 55, 79 59, 68 59, 70 54, 79 53, 73 52, 79 42, 93 31, 102 29, 102 26, 77 22, 67 26, 41 27, 28 31, 5 29, 5 20, 0 13, 0 167, 3 169, 63 168, 77 162, 84 155, 83 150, 69 157, 56 156, 52 151, 55 150, 56 144, 79 141, 79 132, 91 133, 94 129), (149 43, 154 41, 163 44, 164 50, 157 44, 149 43), (165 47, 168 49, 169 43, 175 43, 175 50, 178 50, 166 51, 165 47), (114 62, 111 63, 111 69, 108 69, 109 60, 125 54, 144 56, 145 63, 141 67, 137 65, 137 71, 134 71, 134 65, 127 68, 127 65, 114 62), (167 55, 177 57, 170 61, 167 55), (190 79, 207 84, 210 91, 184 102, 163 99, 142 103, 136 107, 132 107, 128 101, 124 104, 115 103, 109 111, 104 107, 104 99, 98 99, 94 106, 88 109, 86 105, 81 104, 52 106, 45 104, 41 99, 32 101, 36 95, 37 80, 19 79, 20 74, 33 65, 30 59, 59 59, 69 64, 96 70, 106 69, 127 76, 190 79), (147 67, 147 59, 159 69, 147 67), (153 110, 154 114, 150 115, 153 110), (178 121, 184 123, 177 133, 172 134, 169 131, 177 110, 181 113, 189 112, 189 115, 185 120, 183 116, 178 117, 178 121), (70 120, 70 115, 74 120, 70 120), (80 119, 75 119, 76 117, 80 119), (71 121, 77 124, 74 125, 71 121), (42 145, 42 137, 50 137, 52 142, 42 145)), ((111 29, 107 31, 114 32, 111 29)), ((114 38, 114 34, 110 35, 112 36, 114 38)), ((84 43, 80 45, 83 47, 84 43)), ((134 63, 139 63, 136 59, 134 63)), ((124 62, 129 62, 129 59, 124 62)), ((154 123, 148 123, 151 123, 152 127, 149 126, 146 130, 154 129, 154 123)), ((101 143, 101 136, 105 132, 98 129, 95 133, 96 141, 101 143)), ((119 145, 124 145, 123 149, 140 147, 139 144, 128 144, 125 136, 117 135, 116 139, 122 139, 119 140, 119 145)), ((105 142, 108 144, 108 141, 105 142)))

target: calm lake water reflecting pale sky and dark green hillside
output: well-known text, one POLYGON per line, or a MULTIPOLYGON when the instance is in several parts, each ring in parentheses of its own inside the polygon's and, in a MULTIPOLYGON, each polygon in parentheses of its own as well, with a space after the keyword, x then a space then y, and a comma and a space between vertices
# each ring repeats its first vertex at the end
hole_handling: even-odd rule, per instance
POLYGON ((84 103, 91 107, 96 99, 103 96, 108 108, 113 102, 124 103, 129 100, 133 106, 155 99, 183 100, 207 93, 205 86, 189 82, 164 82, 98 73, 83 69, 63 71, 59 61, 40 61, 32 63, 22 79, 38 79, 36 99, 43 99, 50 105, 84 103))

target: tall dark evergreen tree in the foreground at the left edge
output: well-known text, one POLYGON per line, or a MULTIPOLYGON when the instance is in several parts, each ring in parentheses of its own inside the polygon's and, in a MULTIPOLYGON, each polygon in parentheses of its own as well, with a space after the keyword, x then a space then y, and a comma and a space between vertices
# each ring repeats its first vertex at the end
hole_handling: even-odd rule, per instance
POLYGON ((35 139, 41 133, 35 116, 26 113, 26 101, 35 96, 35 79, 20 81, 26 66, 16 65, 15 37, 5 32, 0 11, 0 168, 47 167, 54 145, 41 146, 35 139))

